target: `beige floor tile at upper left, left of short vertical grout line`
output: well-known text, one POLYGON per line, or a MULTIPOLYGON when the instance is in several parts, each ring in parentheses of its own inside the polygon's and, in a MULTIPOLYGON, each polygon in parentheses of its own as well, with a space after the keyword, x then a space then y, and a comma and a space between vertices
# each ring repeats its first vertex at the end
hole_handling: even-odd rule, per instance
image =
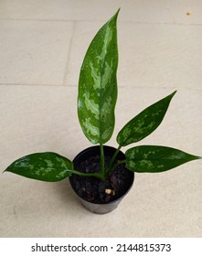
POLYGON ((71 32, 70 22, 1 21, 0 83, 63 83, 71 32))

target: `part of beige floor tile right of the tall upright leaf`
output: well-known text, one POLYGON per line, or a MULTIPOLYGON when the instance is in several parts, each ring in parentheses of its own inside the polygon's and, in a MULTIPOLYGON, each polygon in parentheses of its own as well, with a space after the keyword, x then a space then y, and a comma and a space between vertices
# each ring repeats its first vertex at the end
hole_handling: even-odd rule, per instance
POLYGON ((202 27, 193 26, 140 24, 121 28, 122 85, 200 88, 201 32, 202 27))

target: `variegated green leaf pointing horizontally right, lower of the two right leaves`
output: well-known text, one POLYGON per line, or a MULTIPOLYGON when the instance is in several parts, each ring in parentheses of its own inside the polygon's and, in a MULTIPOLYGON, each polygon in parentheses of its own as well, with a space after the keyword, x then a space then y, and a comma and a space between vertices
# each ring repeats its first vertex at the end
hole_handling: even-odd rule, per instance
POLYGON ((157 173, 201 159, 179 149, 158 145, 140 145, 126 151, 126 167, 133 172, 157 173))

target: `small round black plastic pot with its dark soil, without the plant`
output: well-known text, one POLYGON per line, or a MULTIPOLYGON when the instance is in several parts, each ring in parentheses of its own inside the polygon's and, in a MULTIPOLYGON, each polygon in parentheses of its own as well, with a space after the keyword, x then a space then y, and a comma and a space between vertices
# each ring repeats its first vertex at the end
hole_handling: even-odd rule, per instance
MULTIPOLYGON (((104 145, 105 166, 109 165, 116 149, 104 145)), ((120 151, 116 160, 124 160, 125 155, 120 151)), ((91 146, 77 155, 74 169, 82 173, 100 172, 100 146, 91 146)), ((105 181, 96 177, 72 175, 69 182, 74 192, 80 197, 80 202, 90 212, 105 214, 117 208, 122 198, 133 186, 134 173, 124 164, 118 165, 105 181)))

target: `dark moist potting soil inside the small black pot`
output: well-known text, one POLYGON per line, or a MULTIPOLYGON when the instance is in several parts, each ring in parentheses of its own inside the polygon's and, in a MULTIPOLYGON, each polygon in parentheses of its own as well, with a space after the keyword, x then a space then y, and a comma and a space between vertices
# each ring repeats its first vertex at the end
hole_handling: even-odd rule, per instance
MULTIPOLYGON (((105 156, 105 166, 109 165, 111 158, 105 156)), ((100 172, 100 155, 91 156, 89 159, 75 166, 82 173, 100 172)), ((132 185, 133 173, 123 164, 118 165, 105 181, 96 177, 72 175, 71 185, 75 192, 83 199, 96 204, 112 202, 124 195, 132 185)))

